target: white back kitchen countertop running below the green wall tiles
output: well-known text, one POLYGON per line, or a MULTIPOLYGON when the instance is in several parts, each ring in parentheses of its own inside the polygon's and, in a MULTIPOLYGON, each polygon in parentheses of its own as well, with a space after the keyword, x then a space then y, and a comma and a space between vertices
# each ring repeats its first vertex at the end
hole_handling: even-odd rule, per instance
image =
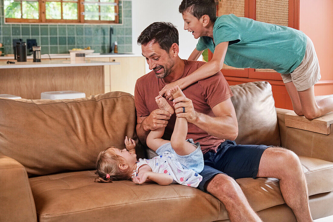
MULTIPOLYGON (((139 54, 106 54, 101 55, 100 53, 91 53, 86 55, 86 58, 108 58, 108 57, 142 57, 139 54)), ((42 54, 42 59, 69 59, 69 54, 42 54)), ((33 59, 32 55, 27 56, 27 59, 33 59)), ((14 56, 0 56, 0 60, 14 60, 14 56)))

